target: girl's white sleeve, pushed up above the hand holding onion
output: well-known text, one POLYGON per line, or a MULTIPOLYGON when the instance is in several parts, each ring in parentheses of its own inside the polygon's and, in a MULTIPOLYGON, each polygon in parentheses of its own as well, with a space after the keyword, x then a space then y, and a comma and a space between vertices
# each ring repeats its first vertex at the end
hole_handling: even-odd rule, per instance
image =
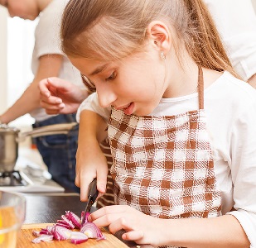
POLYGON ((230 126, 232 154, 231 176, 234 184, 234 208, 228 212, 237 218, 251 243, 256 247, 256 98, 248 94, 237 109, 230 126))

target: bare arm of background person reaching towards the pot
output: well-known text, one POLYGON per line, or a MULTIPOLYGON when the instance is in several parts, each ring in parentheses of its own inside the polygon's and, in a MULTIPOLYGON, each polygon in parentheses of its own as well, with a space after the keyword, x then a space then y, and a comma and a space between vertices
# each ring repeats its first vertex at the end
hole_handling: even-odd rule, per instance
POLYGON ((38 83, 41 79, 58 76, 63 61, 62 55, 43 55, 39 59, 39 67, 35 78, 22 96, 0 116, 2 123, 9 123, 40 107, 38 83))

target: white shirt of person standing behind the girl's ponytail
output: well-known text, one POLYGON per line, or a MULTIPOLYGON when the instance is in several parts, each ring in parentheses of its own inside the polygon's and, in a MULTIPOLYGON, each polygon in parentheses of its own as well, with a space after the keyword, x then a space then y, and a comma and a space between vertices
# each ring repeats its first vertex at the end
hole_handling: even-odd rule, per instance
POLYGON ((256 15, 251 0, 205 0, 229 60, 247 81, 256 73, 256 15))

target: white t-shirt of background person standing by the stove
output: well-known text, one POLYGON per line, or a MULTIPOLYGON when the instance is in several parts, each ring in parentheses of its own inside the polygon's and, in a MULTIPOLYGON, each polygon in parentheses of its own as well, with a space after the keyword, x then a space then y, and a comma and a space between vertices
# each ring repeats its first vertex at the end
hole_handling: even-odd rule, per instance
MULTIPOLYGON (((33 74, 36 74, 39 66, 39 59, 42 55, 63 55, 64 60, 58 77, 84 88, 85 86, 82 83, 79 70, 70 63, 70 60, 68 60, 60 49, 60 21, 67 2, 69 1, 53 0, 40 13, 35 31, 35 46, 32 55, 31 68, 33 74)), ((51 64, 49 66, 51 66, 51 64)), ((37 122, 53 117, 53 115, 47 115, 43 108, 37 108, 30 114, 37 122)))

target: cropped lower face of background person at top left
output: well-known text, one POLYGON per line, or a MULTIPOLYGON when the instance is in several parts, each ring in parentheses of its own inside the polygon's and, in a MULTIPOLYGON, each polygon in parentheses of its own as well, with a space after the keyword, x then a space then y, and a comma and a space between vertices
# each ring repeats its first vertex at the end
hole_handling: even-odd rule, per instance
POLYGON ((7 7, 10 17, 33 21, 40 13, 36 0, 0 0, 0 4, 7 7))

